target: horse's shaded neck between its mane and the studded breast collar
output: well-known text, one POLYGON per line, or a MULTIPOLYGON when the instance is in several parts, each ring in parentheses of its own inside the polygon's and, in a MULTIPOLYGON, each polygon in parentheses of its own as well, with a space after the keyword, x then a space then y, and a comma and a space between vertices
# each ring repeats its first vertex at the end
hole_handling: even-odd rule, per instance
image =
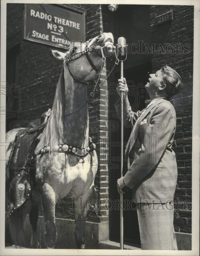
POLYGON ((64 72, 65 79, 65 103, 63 115, 63 143, 71 144, 78 148, 85 148, 88 146, 89 140, 89 117, 88 108, 85 104, 81 109, 75 113, 86 101, 86 86, 79 84, 73 80, 68 70, 64 72))

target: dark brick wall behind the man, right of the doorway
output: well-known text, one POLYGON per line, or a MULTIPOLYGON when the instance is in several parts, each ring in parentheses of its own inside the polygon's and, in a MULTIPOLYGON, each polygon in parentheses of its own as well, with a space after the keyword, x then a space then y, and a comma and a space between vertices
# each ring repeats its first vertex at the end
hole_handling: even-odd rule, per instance
POLYGON ((191 233, 192 218, 192 89, 193 89, 193 6, 151 6, 151 40, 162 44, 190 44, 188 54, 152 55, 153 72, 163 65, 174 68, 183 80, 183 89, 171 99, 177 115, 173 150, 176 153, 178 181, 175 192, 174 226, 177 232, 191 233), (155 17, 173 10, 172 21, 155 25, 155 17), (178 201, 180 200, 180 202, 178 201), (188 200, 188 201, 184 201, 188 200), (179 205, 179 206, 178 206, 179 205))

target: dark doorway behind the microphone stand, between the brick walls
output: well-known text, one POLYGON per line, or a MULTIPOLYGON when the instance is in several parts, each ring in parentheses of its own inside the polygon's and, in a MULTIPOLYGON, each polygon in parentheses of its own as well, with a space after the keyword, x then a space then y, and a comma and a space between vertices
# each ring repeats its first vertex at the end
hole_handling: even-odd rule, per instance
MULTIPOLYGON (((151 43, 150 35, 150 7, 148 5, 119 5, 113 15, 114 37, 125 37, 126 43, 137 43, 143 40, 151 43)), ((145 99, 148 98, 146 89, 146 75, 151 72, 151 56, 149 54, 130 54, 124 62, 124 77, 129 88, 129 102, 133 111, 145 108, 145 99)), ((109 198, 119 200, 116 181, 121 176, 121 121, 116 114, 114 103, 116 102, 117 80, 120 78, 119 67, 113 72, 108 85, 109 94, 109 123, 118 126, 110 134, 110 169, 109 169, 109 198)), ((124 149, 130 136, 131 129, 124 127, 124 149)), ((127 171, 126 163, 123 164, 124 174, 127 171)), ((131 191, 124 194, 124 242, 138 244, 140 246, 140 233, 137 218, 137 210, 134 203, 131 203, 131 191)), ((119 241, 120 238, 120 210, 110 210, 110 240, 119 241)))

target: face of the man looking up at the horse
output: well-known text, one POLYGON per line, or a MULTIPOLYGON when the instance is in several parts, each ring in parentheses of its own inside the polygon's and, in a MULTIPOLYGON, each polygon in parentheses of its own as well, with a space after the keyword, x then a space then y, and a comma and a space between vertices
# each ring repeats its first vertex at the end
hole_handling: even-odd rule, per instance
POLYGON ((158 88, 162 85, 163 74, 161 70, 156 71, 155 74, 149 75, 149 82, 146 83, 145 87, 147 91, 157 92, 158 88))

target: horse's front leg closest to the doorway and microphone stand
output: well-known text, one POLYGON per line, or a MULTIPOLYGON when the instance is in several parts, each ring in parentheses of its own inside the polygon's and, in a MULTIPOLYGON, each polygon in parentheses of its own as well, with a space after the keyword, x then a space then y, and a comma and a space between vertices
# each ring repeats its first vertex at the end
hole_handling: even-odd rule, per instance
POLYGON ((89 201, 94 198, 94 184, 80 198, 75 199, 75 240, 78 249, 85 249, 85 222, 89 201))

